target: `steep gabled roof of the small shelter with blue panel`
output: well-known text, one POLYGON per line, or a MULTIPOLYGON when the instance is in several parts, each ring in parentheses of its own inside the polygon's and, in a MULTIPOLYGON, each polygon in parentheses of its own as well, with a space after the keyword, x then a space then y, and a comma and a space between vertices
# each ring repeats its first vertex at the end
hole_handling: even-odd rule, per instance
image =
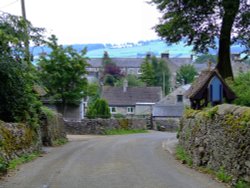
POLYGON ((229 88, 229 86, 221 77, 217 69, 202 71, 199 77, 193 82, 192 86, 187 90, 185 95, 190 99, 201 99, 203 97, 203 93, 205 92, 210 80, 215 75, 220 79, 220 81, 224 85, 223 91, 225 92, 225 97, 229 100, 235 99, 236 96, 234 92, 229 88))

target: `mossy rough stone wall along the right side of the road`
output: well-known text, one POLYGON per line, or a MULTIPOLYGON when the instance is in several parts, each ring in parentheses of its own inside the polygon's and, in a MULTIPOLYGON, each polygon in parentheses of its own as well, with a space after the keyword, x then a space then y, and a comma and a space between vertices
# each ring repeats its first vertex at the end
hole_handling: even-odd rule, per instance
POLYGON ((250 108, 223 104, 209 110, 187 110, 181 119, 179 144, 193 165, 250 182, 250 108))

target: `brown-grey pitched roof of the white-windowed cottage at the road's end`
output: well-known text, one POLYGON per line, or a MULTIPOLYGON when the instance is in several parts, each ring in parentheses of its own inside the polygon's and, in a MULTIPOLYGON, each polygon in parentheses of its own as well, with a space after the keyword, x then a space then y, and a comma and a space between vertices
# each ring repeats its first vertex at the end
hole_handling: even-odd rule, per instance
POLYGON ((136 103, 156 103, 161 99, 161 87, 123 87, 104 86, 101 97, 110 106, 135 106, 136 103))

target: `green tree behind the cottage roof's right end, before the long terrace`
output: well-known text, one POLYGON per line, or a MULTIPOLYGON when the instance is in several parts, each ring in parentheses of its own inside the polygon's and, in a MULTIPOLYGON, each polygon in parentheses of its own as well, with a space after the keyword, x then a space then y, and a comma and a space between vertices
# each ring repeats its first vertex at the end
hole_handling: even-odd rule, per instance
POLYGON ((169 92, 170 71, 164 60, 158 60, 155 56, 146 57, 141 72, 140 79, 147 86, 161 86, 165 95, 169 92))

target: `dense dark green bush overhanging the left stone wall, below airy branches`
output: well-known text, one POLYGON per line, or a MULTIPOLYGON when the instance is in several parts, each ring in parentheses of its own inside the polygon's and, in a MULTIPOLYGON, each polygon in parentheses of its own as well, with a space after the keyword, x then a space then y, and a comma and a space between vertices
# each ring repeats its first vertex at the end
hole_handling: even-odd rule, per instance
POLYGON ((0 119, 37 125, 40 107, 31 71, 21 62, 0 61, 0 119))

